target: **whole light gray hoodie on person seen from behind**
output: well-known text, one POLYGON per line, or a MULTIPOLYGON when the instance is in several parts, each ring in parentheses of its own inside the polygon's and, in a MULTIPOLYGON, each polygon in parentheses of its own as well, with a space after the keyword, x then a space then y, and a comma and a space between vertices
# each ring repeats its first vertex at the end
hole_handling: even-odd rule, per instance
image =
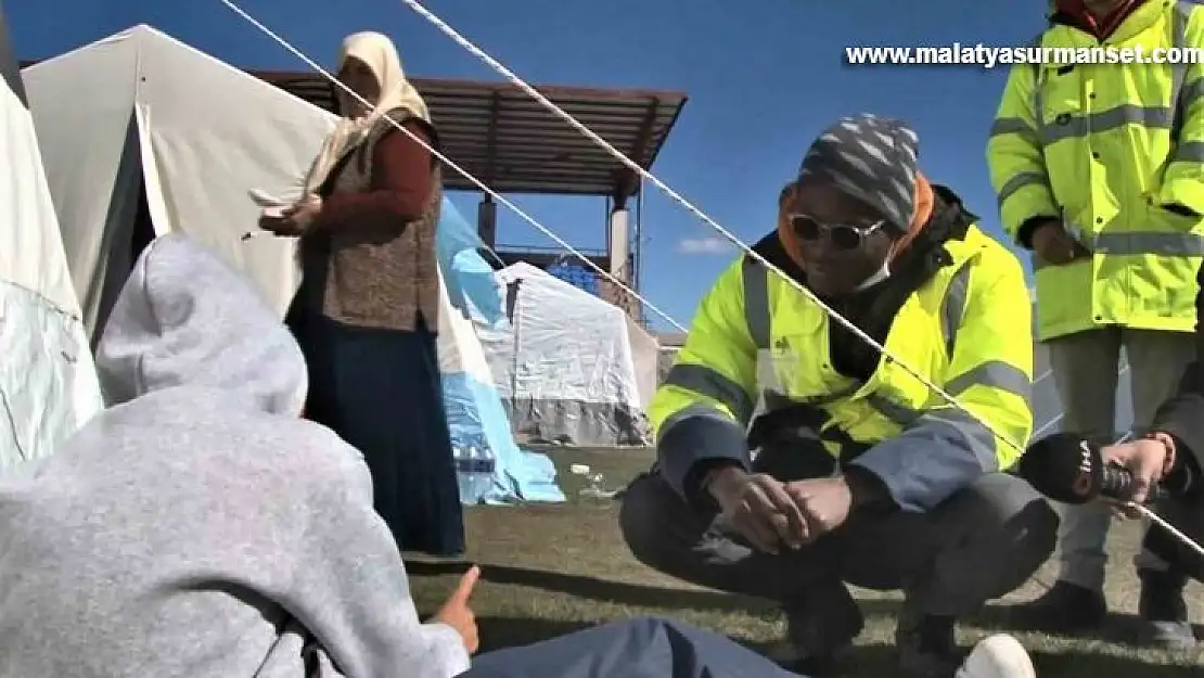
POLYGON ((98 350, 113 407, 0 483, 0 678, 447 678, 361 455, 299 418, 267 303, 182 236, 138 259, 98 350))

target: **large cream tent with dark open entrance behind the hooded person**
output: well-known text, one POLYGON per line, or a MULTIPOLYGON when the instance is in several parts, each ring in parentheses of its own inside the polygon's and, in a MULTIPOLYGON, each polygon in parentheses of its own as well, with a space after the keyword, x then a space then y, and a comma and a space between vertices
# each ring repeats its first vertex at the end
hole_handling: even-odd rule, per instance
POLYGON ((247 191, 297 195, 334 116, 144 25, 24 79, 94 338, 141 247, 173 231, 224 254, 283 312, 293 243, 241 240, 259 214, 247 191))

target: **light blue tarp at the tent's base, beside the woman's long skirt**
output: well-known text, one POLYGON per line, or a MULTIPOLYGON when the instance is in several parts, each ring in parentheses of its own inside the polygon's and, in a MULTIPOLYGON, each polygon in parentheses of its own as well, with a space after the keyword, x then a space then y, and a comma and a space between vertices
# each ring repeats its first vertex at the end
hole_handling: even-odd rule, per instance
POLYGON ((444 373, 443 406, 456 450, 461 502, 565 501, 551 460, 514 442, 496 388, 464 372, 444 373))

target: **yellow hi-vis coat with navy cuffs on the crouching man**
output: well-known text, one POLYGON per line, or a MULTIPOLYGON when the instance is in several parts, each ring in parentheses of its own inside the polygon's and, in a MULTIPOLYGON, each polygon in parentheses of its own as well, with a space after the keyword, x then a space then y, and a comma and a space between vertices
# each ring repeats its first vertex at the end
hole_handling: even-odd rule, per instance
POLYGON ((961 407, 890 360, 866 383, 833 371, 827 313, 745 257, 703 299, 649 407, 662 476, 686 491, 689 470, 700 461, 745 460, 744 431, 763 389, 767 401, 815 405, 833 455, 850 442, 869 447, 852 464, 877 474, 904 508, 931 508, 981 473, 1010 467, 1033 424, 1023 271, 973 225, 964 240, 944 247, 952 264, 903 303, 885 346, 961 407), (767 360, 759 365, 759 358, 767 360), (674 435, 685 428, 695 432, 674 435))

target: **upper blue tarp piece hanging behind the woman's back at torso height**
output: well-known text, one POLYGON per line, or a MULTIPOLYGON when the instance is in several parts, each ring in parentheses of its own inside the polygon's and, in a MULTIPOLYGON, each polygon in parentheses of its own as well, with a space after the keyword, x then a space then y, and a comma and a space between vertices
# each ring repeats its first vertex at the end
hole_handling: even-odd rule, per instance
POLYGON ((471 303, 492 324, 502 318, 504 309, 494 269, 478 252, 483 247, 477 229, 444 196, 435 231, 435 250, 452 306, 467 313, 471 303))

